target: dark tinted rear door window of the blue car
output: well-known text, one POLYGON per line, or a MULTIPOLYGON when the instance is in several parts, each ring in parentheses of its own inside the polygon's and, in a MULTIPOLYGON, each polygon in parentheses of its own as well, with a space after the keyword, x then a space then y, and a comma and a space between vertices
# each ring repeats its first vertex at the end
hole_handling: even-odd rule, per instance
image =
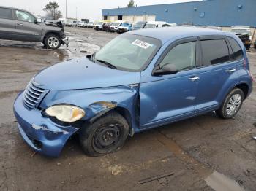
POLYGON ((201 41, 201 45, 204 66, 230 61, 229 50, 225 39, 203 40, 201 41))

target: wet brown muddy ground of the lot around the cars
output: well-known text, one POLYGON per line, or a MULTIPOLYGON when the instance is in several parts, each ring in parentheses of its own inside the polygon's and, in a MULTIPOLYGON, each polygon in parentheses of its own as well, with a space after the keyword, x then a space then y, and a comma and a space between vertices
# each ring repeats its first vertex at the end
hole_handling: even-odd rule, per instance
MULTIPOLYGON (((0 190, 255 190, 256 88, 232 120, 212 112, 176 122, 137 134, 104 157, 83 155, 77 136, 59 158, 34 154, 12 113, 18 92, 37 71, 97 51, 117 36, 87 28, 67 31, 70 46, 56 51, 0 41, 0 190), (163 174, 169 176, 139 184, 163 174)), ((256 77, 256 52, 248 55, 256 77)))

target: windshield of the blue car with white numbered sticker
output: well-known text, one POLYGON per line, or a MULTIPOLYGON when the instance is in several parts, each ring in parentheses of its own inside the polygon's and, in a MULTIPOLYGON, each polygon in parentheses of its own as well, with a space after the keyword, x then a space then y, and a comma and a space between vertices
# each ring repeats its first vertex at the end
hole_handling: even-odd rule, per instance
POLYGON ((142 71, 154 58, 160 46, 158 39, 124 34, 99 50, 94 61, 110 63, 116 69, 124 71, 142 71))

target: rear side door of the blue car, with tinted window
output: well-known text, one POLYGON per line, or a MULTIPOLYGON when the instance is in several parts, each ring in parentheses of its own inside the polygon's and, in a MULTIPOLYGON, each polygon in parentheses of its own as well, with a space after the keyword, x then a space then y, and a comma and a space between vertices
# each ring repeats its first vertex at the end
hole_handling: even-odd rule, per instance
MULTIPOLYGON (((223 93, 229 88, 228 79, 236 79, 236 61, 225 36, 201 36, 203 66, 200 69, 195 112, 218 109, 223 93)), ((233 80, 230 80, 233 81, 233 80)))

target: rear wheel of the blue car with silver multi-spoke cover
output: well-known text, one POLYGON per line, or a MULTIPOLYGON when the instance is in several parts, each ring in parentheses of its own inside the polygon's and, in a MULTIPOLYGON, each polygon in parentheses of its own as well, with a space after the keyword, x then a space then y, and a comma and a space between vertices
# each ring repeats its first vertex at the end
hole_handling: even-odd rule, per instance
POLYGON ((241 109, 244 101, 244 92, 241 89, 233 89, 225 98, 222 106, 215 111, 223 119, 233 118, 241 109))

